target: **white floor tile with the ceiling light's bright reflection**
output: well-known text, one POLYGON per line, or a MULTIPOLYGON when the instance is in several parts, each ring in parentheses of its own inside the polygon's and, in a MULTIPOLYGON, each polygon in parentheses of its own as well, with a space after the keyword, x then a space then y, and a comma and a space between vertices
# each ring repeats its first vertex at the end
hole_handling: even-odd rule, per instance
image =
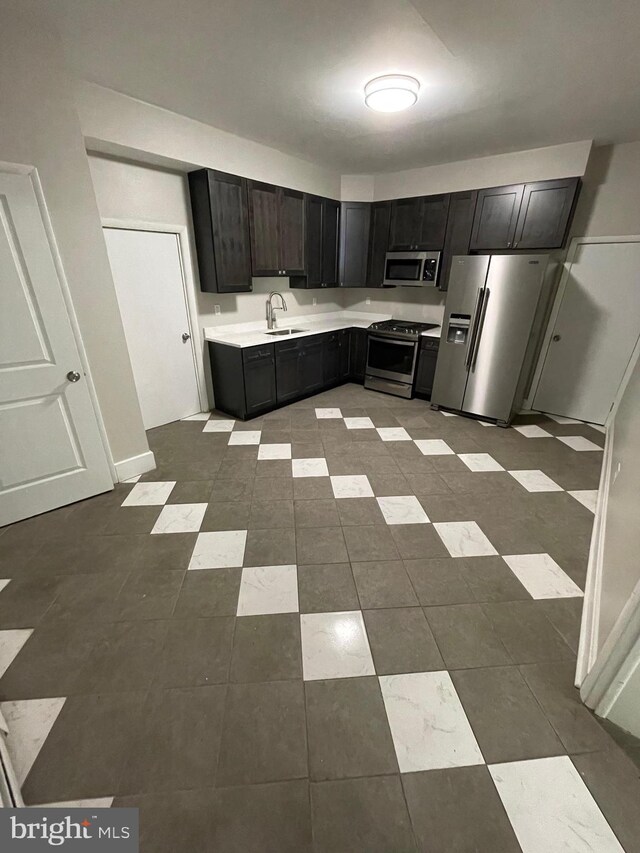
POLYGON ((305 681, 375 675, 362 613, 304 613, 300 616, 305 681))

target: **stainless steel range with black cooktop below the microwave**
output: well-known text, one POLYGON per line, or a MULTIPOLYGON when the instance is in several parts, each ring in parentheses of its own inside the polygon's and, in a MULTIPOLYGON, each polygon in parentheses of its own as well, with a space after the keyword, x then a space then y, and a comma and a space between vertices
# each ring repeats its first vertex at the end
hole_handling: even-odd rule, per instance
POLYGON ((420 335, 436 323, 382 320, 369 326, 364 387, 397 397, 413 395, 420 335))

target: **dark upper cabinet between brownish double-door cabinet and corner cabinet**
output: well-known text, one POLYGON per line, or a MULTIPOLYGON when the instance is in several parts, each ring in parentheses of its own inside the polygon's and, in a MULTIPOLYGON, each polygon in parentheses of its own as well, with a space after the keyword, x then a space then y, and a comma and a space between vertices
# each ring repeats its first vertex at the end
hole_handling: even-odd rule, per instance
POLYGON ((340 202, 322 196, 305 197, 306 275, 293 276, 292 288, 338 286, 338 228, 340 202))

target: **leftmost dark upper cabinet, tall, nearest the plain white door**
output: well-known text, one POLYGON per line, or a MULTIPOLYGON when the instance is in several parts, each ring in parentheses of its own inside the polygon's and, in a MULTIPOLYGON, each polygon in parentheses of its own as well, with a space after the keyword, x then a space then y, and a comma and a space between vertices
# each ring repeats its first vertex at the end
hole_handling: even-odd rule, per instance
POLYGON ((247 183, 213 169, 189 173, 200 289, 207 293, 251 290, 247 183))

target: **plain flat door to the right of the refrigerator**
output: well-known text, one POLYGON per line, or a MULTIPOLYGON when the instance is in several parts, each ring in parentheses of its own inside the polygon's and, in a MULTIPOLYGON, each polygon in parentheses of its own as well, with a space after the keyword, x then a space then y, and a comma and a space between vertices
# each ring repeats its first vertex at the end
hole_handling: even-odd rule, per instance
POLYGON ((582 243, 533 408, 604 424, 640 336, 640 243, 582 243))

